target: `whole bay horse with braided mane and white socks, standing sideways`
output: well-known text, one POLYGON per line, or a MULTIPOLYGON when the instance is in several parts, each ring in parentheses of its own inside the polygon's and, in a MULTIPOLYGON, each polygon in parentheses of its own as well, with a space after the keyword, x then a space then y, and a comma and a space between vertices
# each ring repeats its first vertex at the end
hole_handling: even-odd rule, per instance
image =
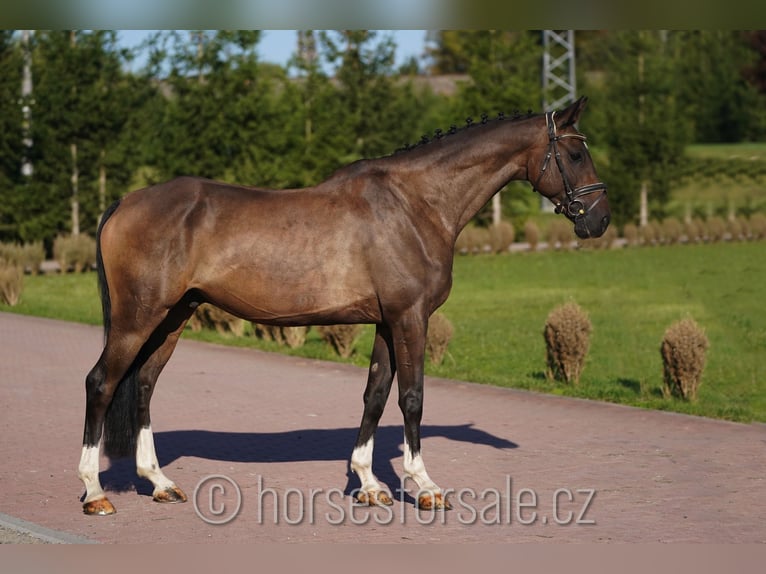
POLYGON ((406 151, 356 161, 314 187, 269 190, 179 177, 111 205, 97 233, 105 344, 85 380, 78 468, 84 512, 115 512, 99 480, 102 438, 107 455, 135 455, 154 500, 186 500, 160 469, 149 403, 203 302, 271 325, 374 324, 350 460, 361 481, 357 498, 392 504, 372 472, 372 455, 396 374, 404 475, 419 488, 421 508, 449 508, 420 448, 428 319, 450 292, 458 234, 511 180, 532 183, 579 237, 604 233, 606 186, 575 126, 585 103, 524 117, 482 116, 406 151))

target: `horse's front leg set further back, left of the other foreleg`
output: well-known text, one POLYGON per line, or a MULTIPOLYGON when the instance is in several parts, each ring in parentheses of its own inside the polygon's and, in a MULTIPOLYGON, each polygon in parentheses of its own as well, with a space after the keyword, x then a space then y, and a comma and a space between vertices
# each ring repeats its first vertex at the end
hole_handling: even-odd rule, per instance
POLYGON ((391 497, 383 491, 372 472, 372 450, 375 430, 386 406, 395 370, 391 334, 387 328, 379 325, 375 331, 370 372, 364 391, 362 424, 359 427, 354 452, 351 454, 351 470, 359 476, 362 483, 357 498, 359 502, 371 506, 393 504, 391 497))

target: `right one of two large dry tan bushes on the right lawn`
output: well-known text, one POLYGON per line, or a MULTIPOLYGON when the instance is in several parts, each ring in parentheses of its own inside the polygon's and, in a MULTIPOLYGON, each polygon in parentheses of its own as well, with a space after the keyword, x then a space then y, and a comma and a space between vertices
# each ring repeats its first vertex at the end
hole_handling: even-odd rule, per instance
POLYGON ((660 346, 666 397, 696 400, 708 347, 705 332, 693 319, 668 327, 660 346))

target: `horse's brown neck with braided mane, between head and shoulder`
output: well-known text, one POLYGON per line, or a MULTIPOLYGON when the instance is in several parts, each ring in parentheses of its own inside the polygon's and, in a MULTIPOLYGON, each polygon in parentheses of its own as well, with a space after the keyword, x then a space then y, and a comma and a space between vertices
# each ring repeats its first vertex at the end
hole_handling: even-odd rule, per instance
POLYGON ((405 152, 412 154, 402 164, 412 170, 408 190, 438 212, 447 234, 456 239, 495 193, 527 177, 527 150, 540 132, 532 124, 496 120, 405 152))

